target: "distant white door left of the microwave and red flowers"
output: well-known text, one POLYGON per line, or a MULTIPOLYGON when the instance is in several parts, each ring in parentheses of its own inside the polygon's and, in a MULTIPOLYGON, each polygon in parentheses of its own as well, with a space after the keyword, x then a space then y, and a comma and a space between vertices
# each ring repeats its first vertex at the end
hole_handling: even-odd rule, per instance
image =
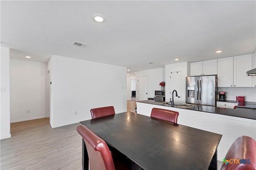
POLYGON ((148 100, 148 76, 138 77, 138 100, 148 100))

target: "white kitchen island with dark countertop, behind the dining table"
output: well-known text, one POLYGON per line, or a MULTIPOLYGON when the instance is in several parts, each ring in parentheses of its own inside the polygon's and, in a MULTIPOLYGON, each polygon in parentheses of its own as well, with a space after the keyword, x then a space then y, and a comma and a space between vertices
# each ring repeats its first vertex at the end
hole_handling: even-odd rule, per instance
POLYGON ((236 138, 249 136, 256 140, 256 111, 252 109, 223 109, 200 105, 187 108, 154 100, 138 101, 136 104, 138 114, 150 116, 154 107, 178 111, 178 124, 223 135, 217 153, 220 161, 236 138))

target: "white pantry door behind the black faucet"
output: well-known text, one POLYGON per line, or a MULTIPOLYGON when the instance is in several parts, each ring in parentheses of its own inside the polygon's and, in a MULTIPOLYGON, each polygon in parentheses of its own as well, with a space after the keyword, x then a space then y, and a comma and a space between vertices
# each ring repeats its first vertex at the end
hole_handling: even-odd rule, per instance
POLYGON ((181 93, 181 72, 171 72, 170 73, 170 98, 172 98, 172 91, 176 90, 178 97, 176 97, 176 93, 174 92, 174 103, 181 103, 182 101, 182 93, 181 93))

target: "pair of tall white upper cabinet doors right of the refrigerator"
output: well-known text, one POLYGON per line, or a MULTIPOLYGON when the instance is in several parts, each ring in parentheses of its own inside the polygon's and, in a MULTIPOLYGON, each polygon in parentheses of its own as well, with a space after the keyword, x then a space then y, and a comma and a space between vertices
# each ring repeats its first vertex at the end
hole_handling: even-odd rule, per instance
POLYGON ((218 87, 252 87, 252 54, 218 59, 218 87))

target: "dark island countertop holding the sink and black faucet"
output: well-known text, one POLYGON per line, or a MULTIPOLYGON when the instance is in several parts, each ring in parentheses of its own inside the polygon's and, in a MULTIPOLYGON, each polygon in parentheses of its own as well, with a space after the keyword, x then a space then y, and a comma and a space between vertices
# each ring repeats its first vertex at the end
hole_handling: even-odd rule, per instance
MULTIPOLYGON (((254 119, 256 120, 256 109, 247 109, 247 108, 237 108, 237 109, 227 109, 227 108, 220 108, 220 107, 214 107, 214 106, 203 106, 203 105, 195 105, 190 108, 186 107, 179 107, 179 106, 170 106, 168 104, 163 104, 163 102, 158 102, 154 100, 143 100, 138 101, 140 103, 145 104, 155 104, 160 106, 167 106, 167 107, 176 107, 180 109, 187 109, 187 110, 195 110, 195 111, 204 111, 208 113, 216 113, 220 115, 228 115, 228 116, 234 116, 234 117, 242 117, 247 119, 254 119)), ((225 101, 227 102, 227 101, 225 101)))

